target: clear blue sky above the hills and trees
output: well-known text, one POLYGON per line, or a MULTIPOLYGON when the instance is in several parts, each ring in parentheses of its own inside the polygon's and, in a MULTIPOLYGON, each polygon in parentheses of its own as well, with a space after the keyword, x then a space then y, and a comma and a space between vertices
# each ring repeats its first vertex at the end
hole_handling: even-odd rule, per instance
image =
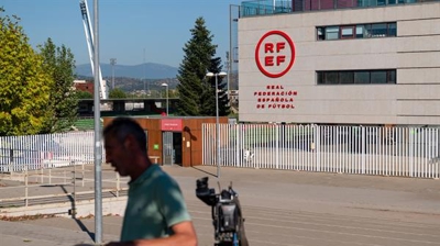
MULTIPOLYGON (((94 25, 94 2, 87 0, 94 25)), ((99 0, 99 57, 118 65, 156 63, 178 67, 183 47, 202 16, 218 45, 216 56, 229 51, 229 7, 241 0, 99 0)), ((48 37, 70 48, 76 64, 90 63, 79 0, 1 0, 3 15, 18 15, 33 47, 48 37)), ((1 13, 0 13, 1 14, 1 13)))

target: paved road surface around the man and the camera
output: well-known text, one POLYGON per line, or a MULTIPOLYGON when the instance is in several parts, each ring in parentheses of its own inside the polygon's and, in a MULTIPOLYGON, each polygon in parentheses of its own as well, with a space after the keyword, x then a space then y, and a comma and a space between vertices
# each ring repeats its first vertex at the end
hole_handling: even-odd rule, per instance
MULTIPOLYGON (((210 208, 194 194, 195 180, 215 167, 165 167, 180 183, 199 245, 212 245, 210 208)), ((221 169, 221 185, 240 193, 252 246, 440 245, 440 180, 221 169)), ((103 217, 103 239, 117 239, 120 216, 103 217)), ((0 221, 1 245, 92 243, 94 219, 0 221)))

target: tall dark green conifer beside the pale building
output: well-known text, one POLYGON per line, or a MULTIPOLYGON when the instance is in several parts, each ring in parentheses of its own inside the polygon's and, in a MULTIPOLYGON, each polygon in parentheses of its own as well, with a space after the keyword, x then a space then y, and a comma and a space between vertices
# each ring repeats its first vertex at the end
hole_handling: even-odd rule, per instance
MULTIPOLYGON (((190 30, 191 38, 185 44, 184 59, 179 67, 177 92, 179 101, 176 111, 180 115, 216 115, 216 88, 215 78, 206 78, 207 71, 219 72, 221 58, 215 57, 217 45, 213 45, 210 31, 205 25, 205 20, 198 18, 195 27, 190 30)), ((224 85, 218 78, 222 90, 224 85)), ((222 92, 224 94, 224 91, 222 92)), ((219 114, 229 114, 228 97, 219 93, 219 114), (220 100, 221 99, 221 100, 220 100)))

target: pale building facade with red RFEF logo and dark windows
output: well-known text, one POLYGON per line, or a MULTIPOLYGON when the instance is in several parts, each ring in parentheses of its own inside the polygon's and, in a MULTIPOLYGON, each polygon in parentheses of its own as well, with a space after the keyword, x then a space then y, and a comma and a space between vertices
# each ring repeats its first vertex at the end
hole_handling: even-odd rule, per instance
POLYGON ((240 121, 440 125, 440 2, 248 1, 238 22, 240 121))

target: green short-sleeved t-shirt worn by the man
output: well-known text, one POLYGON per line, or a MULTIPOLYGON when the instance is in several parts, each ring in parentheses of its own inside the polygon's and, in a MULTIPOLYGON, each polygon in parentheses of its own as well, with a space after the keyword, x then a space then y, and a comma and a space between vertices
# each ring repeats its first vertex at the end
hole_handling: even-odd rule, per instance
POLYGON ((166 237, 173 225, 190 220, 177 182, 153 165, 129 185, 121 242, 166 237))

